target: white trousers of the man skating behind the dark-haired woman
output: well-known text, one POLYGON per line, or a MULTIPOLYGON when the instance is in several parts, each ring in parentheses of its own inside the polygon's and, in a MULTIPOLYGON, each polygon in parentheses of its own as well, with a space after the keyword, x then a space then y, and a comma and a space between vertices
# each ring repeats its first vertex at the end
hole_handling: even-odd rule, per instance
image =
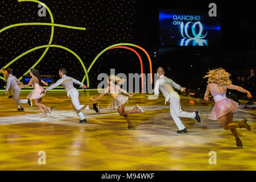
POLYGON ((80 117, 80 119, 85 119, 84 114, 82 114, 81 109, 85 109, 85 110, 90 110, 89 106, 86 106, 84 108, 84 105, 80 105, 79 102, 79 92, 77 91, 77 89, 73 89, 71 90, 69 97, 71 98, 72 101, 72 106, 73 109, 76 111, 76 114, 80 117))

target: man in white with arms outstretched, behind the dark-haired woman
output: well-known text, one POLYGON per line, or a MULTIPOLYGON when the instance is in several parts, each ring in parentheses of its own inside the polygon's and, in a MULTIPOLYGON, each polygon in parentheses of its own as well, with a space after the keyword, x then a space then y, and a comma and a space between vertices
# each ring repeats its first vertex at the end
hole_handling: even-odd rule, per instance
MULTIPOLYGON (((77 85, 81 85, 82 89, 86 89, 86 85, 84 85, 82 82, 75 80, 72 77, 66 76, 67 71, 65 68, 60 68, 59 70, 59 75, 60 75, 60 79, 57 80, 54 84, 52 84, 51 86, 49 86, 47 89, 45 89, 42 93, 45 93, 53 88, 55 88, 56 86, 62 85, 64 86, 68 97, 71 98, 72 101, 72 105, 73 105, 73 109, 76 111, 77 115, 80 117, 80 123, 85 122, 86 123, 86 118, 84 117, 84 114, 82 114, 81 110, 85 109, 85 110, 95 110, 96 113, 100 113, 100 110, 98 108, 98 104, 92 104, 92 105, 80 105, 79 102, 79 92, 77 91, 77 89, 73 86, 73 82, 77 85)), ((41 93, 41 94, 42 94, 41 93)))

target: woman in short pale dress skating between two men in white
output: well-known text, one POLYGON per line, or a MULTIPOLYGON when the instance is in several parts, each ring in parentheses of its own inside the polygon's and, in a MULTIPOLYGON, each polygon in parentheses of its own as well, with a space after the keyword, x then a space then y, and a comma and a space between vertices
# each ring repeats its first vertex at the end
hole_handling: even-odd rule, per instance
POLYGON ((110 75, 109 79, 108 79, 109 86, 96 99, 94 99, 92 97, 90 97, 90 99, 93 100, 93 101, 97 101, 102 96, 104 96, 105 93, 109 93, 114 98, 114 100, 108 106, 109 109, 117 109, 119 115, 125 117, 126 121, 128 122, 128 127, 127 128, 129 130, 133 130, 134 126, 133 126, 133 123, 131 123, 130 118, 128 117, 128 114, 130 114, 130 113, 143 113, 143 110, 137 104, 137 106, 135 106, 133 108, 133 110, 125 111, 125 103, 128 102, 129 97, 123 96, 122 94, 119 94, 118 92, 123 92, 123 93, 127 94, 130 97, 133 97, 134 94, 131 95, 131 94, 127 93, 126 90, 123 90, 120 86, 115 85, 115 82, 117 82, 119 84, 123 84, 125 82, 125 80, 123 78, 119 78, 115 75, 110 75))

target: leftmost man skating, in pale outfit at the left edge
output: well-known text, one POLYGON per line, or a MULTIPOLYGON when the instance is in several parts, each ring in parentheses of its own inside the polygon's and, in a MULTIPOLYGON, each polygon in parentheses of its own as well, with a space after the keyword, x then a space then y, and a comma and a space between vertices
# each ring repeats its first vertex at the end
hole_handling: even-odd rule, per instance
POLYGON ((7 73, 9 73, 9 77, 7 79, 5 93, 3 93, 3 95, 5 96, 6 92, 9 90, 9 88, 11 86, 11 88, 13 88, 13 100, 16 103, 16 105, 18 106, 18 110, 24 111, 22 104, 28 104, 28 105, 32 106, 32 102, 29 99, 19 99, 19 94, 20 94, 21 88, 18 86, 17 82, 19 84, 22 84, 22 82, 20 82, 15 76, 12 75, 13 69, 11 69, 11 68, 7 69, 7 73))

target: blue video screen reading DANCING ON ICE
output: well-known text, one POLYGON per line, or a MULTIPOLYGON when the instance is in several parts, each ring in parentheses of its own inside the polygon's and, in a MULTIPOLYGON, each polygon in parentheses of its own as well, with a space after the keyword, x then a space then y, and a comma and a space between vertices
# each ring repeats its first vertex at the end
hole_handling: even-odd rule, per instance
POLYGON ((159 10, 160 46, 215 46, 220 40, 218 16, 208 12, 159 10))

